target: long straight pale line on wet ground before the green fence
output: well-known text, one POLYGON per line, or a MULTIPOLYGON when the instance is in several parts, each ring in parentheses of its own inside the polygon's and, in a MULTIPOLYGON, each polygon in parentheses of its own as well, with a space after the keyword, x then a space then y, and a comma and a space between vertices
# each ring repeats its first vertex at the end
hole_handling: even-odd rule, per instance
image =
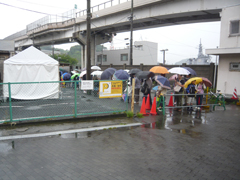
POLYGON ((104 129, 111 129, 111 128, 123 128, 123 127, 132 127, 132 126, 141 126, 141 125, 142 125, 142 123, 132 123, 132 124, 126 124, 126 125, 111 125, 111 126, 93 127, 93 128, 85 128, 85 129, 74 129, 74 130, 66 130, 66 131, 55 131, 55 132, 39 133, 39 134, 2 136, 2 137, 0 137, 0 141, 24 139, 24 138, 34 138, 34 137, 55 136, 55 135, 59 135, 59 134, 89 132, 89 131, 97 131, 97 130, 104 130, 104 129))

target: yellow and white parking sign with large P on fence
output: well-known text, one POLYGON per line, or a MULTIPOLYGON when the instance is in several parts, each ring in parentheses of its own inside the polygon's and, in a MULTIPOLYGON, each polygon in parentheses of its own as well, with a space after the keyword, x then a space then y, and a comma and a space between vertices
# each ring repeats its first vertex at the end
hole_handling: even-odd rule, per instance
POLYGON ((122 97, 122 81, 99 81, 99 98, 122 97))

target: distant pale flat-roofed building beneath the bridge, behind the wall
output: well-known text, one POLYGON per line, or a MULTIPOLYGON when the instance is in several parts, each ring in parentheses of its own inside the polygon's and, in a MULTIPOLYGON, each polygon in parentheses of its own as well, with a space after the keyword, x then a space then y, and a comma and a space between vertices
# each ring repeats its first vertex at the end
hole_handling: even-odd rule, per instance
MULTIPOLYGON (((158 44, 149 41, 136 41, 133 45, 133 65, 157 65, 158 44)), ((96 64, 129 65, 130 48, 96 52, 96 64)))

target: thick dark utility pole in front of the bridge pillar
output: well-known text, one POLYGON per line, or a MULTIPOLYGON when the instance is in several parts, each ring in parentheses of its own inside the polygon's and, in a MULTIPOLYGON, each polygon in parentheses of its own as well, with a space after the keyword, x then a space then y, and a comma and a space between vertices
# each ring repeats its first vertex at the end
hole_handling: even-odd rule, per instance
POLYGON ((90 80, 91 71, 91 0, 87 0, 87 80, 90 80))

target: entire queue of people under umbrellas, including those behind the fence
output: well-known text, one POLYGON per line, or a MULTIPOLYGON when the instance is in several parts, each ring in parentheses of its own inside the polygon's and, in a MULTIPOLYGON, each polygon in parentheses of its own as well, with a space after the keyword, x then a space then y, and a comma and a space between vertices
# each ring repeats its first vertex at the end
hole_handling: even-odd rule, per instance
MULTIPOLYGON (((69 73, 70 74, 70 73, 69 73)), ((161 74, 161 76, 165 77, 165 74, 161 74)), ((92 80, 101 80, 101 76, 91 76, 92 80)), ((182 105, 187 106, 187 111, 193 111, 193 104, 196 103, 196 105, 202 105, 202 99, 203 99, 203 94, 204 94, 204 89, 206 86, 204 85, 203 82, 197 83, 196 81, 191 81, 190 84, 188 84, 187 87, 185 87, 185 83, 191 78, 191 74, 189 75, 181 75, 177 74, 174 79, 174 84, 173 84, 173 90, 174 90, 174 105, 177 106, 174 110, 176 111, 181 111, 182 105), (184 95, 184 98, 182 94, 184 95), (184 102, 182 102, 184 100, 184 102)), ((110 79, 113 79, 113 76, 111 76, 110 79)), ((152 92, 152 87, 154 83, 154 78, 153 77, 146 77, 144 79, 139 79, 135 73, 130 74, 128 83, 126 87, 124 87, 124 92, 123 92, 123 97, 128 97, 127 102, 130 102, 132 99, 132 82, 133 79, 135 80, 135 86, 134 86, 134 103, 139 104, 140 100, 140 93, 142 93, 142 97, 145 97, 145 100, 147 101, 148 97, 150 100, 150 105, 152 105, 152 97, 151 97, 151 92, 152 92), (127 96, 126 96, 127 94, 127 96)), ((86 74, 83 76, 79 76, 79 72, 76 71, 71 71, 71 74, 66 76, 66 72, 61 74, 61 80, 62 81, 70 81, 70 80, 86 80, 86 74), (67 78, 64 78, 67 77, 67 78)), ((69 87, 74 87, 74 82, 68 83, 65 86, 69 87)), ((95 90, 98 91, 99 89, 99 82, 97 82, 96 85, 94 85, 95 90)), ((77 82, 77 88, 79 89, 79 82, 77 82)), ((157 104, 160 101, 162 96, 165 96, 167 93, 167 89, 164 87, 161 87, 158 84, 158 88, 155 91, 154 96, 156 96, 157 99, 157 104)), ((123 98, 125 101, 126 99, 123 98)), ((162 103, 159 103, 160 106, 162 107, 162 103)), ((198 109, 200 109, 200 106, 198 109)))

